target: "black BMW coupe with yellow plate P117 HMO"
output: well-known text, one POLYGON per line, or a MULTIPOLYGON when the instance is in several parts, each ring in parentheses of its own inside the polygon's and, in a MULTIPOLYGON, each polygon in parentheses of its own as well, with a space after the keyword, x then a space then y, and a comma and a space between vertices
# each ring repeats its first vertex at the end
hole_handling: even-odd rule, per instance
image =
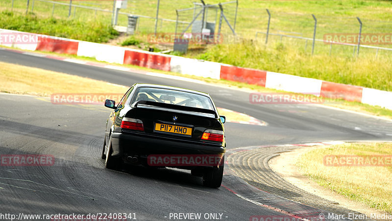
POLYGON ((109 169, 123 164, 190 169, 203 185, 221 186, 224 116, 207 93, 154 84, 134 84, 106 122, 102 159, 109 169))

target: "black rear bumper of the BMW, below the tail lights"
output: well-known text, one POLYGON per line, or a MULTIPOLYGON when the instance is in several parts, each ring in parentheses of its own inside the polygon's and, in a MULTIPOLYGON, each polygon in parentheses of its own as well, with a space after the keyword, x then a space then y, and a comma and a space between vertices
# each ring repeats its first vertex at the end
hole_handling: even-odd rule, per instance
MULTIPOLYGON (((127 162, 127 157, 136 156, 141 159, 139 164, 147 164, 148 155, 214 155, 223 159, 226 151, 225 147, 219 145, 128 133, 112 133, 112 149, 113 157, 122 158, 124 162, 127 162)), ((183 166, 172 167, 182 168, 183 166)))

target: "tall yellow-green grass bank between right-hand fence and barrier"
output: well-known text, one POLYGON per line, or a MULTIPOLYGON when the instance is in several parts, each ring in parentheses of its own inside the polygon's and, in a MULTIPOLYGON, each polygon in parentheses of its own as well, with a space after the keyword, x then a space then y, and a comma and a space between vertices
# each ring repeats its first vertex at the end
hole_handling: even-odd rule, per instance
POLYGON ((272 47, 242 41, 238 44, 216 45, 196 57, 240 67, 392 91, 392 62, 388 56, 377 59, 374 55, 354 58, 311 56, 299 48, 290 47, 289 42, 276 43, 272 47))

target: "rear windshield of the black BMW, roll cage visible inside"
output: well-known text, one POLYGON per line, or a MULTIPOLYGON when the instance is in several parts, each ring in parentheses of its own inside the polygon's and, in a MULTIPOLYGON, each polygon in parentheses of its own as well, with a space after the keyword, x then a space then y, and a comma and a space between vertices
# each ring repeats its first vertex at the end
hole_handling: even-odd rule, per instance
POLYGON ((136 90, 131 104, 137 101, 153 101, 215 111, 209 97, 171 89, 140 87, 136 90))

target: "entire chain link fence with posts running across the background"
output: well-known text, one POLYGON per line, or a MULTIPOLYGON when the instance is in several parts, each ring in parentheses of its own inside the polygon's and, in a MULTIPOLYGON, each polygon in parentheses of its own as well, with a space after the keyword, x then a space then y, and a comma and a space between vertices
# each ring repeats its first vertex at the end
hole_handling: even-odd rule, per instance
MULTIPOLYGON (((252 39, 267 47, 276 47, 283 43, 303 53, 315 55, 356 56, 358 54, 378 56, 392 55, 392 40, 359 42, 361 25, 354 16, 318 16, 312 14, 285 13, 262 8, 242 8, 238 1, 209 4, 204 1, 162 1, 127 0, 126 8, 118 11, 115 19, 115 1, 49 1, 49 0, 0 0, 1 10, 14 10, 22 13, 32 12, 42 16, 70 19, 97 19, 126 27, 128 15, 138 17, 136 31, 140 33, 157 32, 192 32, 193 26, 206 23, 202 28, 219 32, 236 43, 235 39, 252 39), (206 6, 207 5, 207 6, 206 6), (203 21, 194 18, 203 8, 203 21), (221 17, 221 12, 224 17, 221 17), (270 17, 269 17, 270 14, 270 17), (315 26, 315 22, 317 24, 315 26), (227 22, 225 21, 227 20, 227 22), (192 22, 193 21, 193 22, 192 22), (196 23, 195 23, 196 22, 196 23), (207 25, 208 24, 208 25, 207 25), (187 27, 189 28, 184 31, 187 27), (213 26, 213 27, 212 27, 213 26), (316 27, 316 30, 315 30, 316 27), (230 36, 236 36, 230 38, 230 36), (350 41, 334 41, 336 36, 354 36, 350 41), (332 36, 332 41, 326 38, 332 36), (357 40, 355 40, 357 38, 357 40), (233 40, 234 39, 234 40, 233 40), (358 45, 360 46, 358 48, 358 45), (359 50, 360 49, 360 50, 359 50)), ((361 16, 358 16, 359 18, 361 16)), ((392 23, 361 19, 362 37, 391 37, 392 23), (389 33, 388 33, 389 32, 389 33), (373 36, 374 37, 374 36, 373 36)), ((195 28, 194 28, 195 29, 195 28)), ((201 30, 202 32, 202 30, 201 30)), ((366 40, 366 38, 364 38, 366 40)), ((362 40, 362 39, 361 39, 362 40)), ((226 42, 227 43, 227 42, 226 42)))

